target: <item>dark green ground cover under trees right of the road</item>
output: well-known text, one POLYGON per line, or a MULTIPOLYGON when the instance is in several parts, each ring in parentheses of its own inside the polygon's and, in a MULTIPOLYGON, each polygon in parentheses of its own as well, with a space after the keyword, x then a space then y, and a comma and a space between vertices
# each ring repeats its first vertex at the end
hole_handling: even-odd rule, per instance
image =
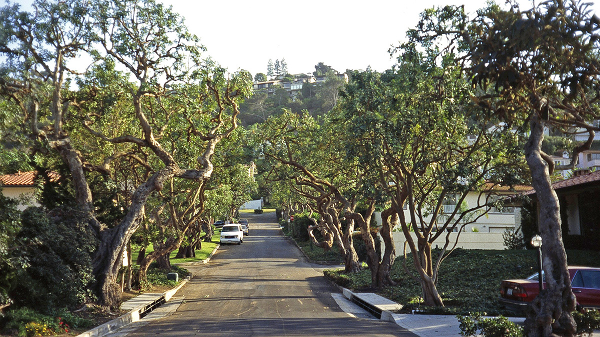
MULTIPOLYGON (((514 315, 500 308, 500 281, 525 278, 535 273, 535 250, 457 249, 443 261, 437 282, 446 308, 426 308, 420 305, 421 287, 404 270, 404 258, 398 257, 392 267, 394 287, 378 291, 381 296, 404 305, 407 312, 421 309, 431 314, 468 314, 485 312, 488 315, 514 315)), ((567 251, 569 265, 600 266, 600 252, 567 251)), ((416 275, 409 255, 407 269, 416 275)), ((343 270, 326 270, 325 275, 343 287, 368 290, 371 275, 368 270, 344 275, 343 270)), ((368 290, 371 291, 371 290, 368 290)))

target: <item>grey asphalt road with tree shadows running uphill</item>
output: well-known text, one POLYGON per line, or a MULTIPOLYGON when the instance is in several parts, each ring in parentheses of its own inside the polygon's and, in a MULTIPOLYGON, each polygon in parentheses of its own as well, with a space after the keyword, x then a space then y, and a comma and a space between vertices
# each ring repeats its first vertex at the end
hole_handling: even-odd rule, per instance
POLYGON ((340 291, 282 236, 274 213, 242 218, 244 243, 221 246, 178 291, 173 314, 129 336, 416 336, 343 312, 331 296, 340 291))

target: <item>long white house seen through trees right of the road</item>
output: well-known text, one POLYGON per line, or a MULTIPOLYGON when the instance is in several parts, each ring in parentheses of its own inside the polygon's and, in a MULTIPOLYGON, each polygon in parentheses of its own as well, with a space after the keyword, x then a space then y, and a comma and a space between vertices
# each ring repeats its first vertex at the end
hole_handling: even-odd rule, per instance
MULTIPOLYGON (((508 186, 494 186, 492 184, 488 184, 485 186, 484 191, 476 192, 472 191, 467 194, 467 197, 464 200, 466 203, 465 206, 473 207, 478 204, 485 204, 486 198, 488 202, 493 202, 493 200, 500 200, 508 197, 509 195, 514 195, 515 193, 520 193, 524 191, 529 191, 531 189, 530 186, 513 186, 512 188, 508 186)), ((449 198, 445 204, 443 205, 442 213, 439 215, 438 221, 445 221, 446 216, 452 212, 456 208, 456 202, 452 201, 452 198, 449 198)), ((503 233, 508 229, 514 229, 515 224, 520 224, 520 212, 515 207, 507 204, 505 207, 488 207, 487 215, 481 216, 477 221, 465 225, 461 231, 458 233, 460 228, 454 228, 454 231, 450 233, 449 239, 451 242, 455 242, 457 236, 460 234, 460 240, 458 240, 457 247, 464 249, 505 249, 504 246, 504 238, 503 233)), ((404 206, 404 216, 409 219, 410 214, 406 205, 404 206)), ((377 221, 377 225, 381 225, 381 213, 377 212, 374 215, 375 221, 377 221)), ((430 217, 425 218, 425 221, 430 221, 430 217)), ((400 228, 397 228, 393 233, 394 243, 396 247, 401 247, 404 245, 404 241, 406 238, 404 237, 403 232, 400 228)), ((413 234, 413 239, 416 240, 416 236, 413 234)), ((434 243, 433 246, 442 247, 445 244, 446 236, 440 236, 434 243)), ((397 255, 402 254, 401 249, 396 250, 397 255)))

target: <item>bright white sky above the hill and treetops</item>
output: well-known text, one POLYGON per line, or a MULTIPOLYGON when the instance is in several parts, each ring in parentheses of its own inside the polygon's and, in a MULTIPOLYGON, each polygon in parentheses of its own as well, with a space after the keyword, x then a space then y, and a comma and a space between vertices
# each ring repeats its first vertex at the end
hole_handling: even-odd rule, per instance
MULTIPOLYGON (((25 8, 32 1, 16 0, 25 8)), ((244 69, 253 76, 266 73, 269 59, 285 59, 292 74, 312 73, 318 62, 338 71, 368 66, 383 71, 394 64, 388 49, 404 40, 425 8, 464 4, 472 13, 485 5, 485 0, 157 1, 185 17, 206 55, 229 71, 244 69)), ((519 2, 522 9, 532 4, 519 2)))

